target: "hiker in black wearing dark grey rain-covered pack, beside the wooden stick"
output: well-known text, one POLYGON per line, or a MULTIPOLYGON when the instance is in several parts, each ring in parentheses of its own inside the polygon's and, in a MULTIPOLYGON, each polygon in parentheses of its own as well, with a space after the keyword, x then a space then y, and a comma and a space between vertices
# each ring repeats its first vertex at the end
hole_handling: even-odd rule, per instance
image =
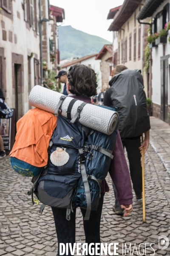
MULTIPOLYGON (((119 133, 123 148, 127 150, 133 189, 136 199, 141 199, 141 151, 142 147, 144 147, 144 153, 147 151, 150 130, 143 78, 140 70, 129 70, 124 65, 117 65, 111 74, 110 88, 105 93, 104 105, 116 105, 118 108, 120 116, 119 133), (144 141, 141 144, 142 133, 144 133, 144 141)), ((115 195, 113 211, 117 215, 123 215, 114 183, 113 190, 115 195)))

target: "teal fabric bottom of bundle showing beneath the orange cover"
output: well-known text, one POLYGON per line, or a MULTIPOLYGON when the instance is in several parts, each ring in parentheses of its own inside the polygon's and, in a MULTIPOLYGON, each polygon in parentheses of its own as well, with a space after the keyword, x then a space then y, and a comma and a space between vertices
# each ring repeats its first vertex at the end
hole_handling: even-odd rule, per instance
POLYGON ((10 157, 11 166, 15 172, 27 177, 34 177, 40 174, 42 167, 32 166, 16 157, 10 157))

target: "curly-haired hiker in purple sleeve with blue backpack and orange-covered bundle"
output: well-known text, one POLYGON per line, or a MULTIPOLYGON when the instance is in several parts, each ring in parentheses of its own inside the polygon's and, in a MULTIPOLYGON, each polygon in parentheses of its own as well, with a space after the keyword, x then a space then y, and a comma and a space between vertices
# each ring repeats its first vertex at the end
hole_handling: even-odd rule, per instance
MULTIPOLYGON (((100 169, 102 172, 105 172, 106 166, 108 166, 107 172, 111 175, 118 191, 117 196, 119 203, 122 209, 125 210, 124 216, 130 214, 133 203, 130 175, 119 131, 117 131, 118 123, 115 131, 113 131, 112 134, 107 135, 102 132, 88 129, 78 122, 78 120, 81 119, 79 115, 81 115, 81 111, 83 107, 85 107, 85 104, 87 103, 87 105, 91 107, 94 106, 91 105, 91 96, 96 95, 97 87, 94 70, 88 66, 80 64, 72 66, 68 71, 68 81, 66 86, 68 97, 73 98, 67 109, 67 117, 61 115, 62 110, 65 113, 66 105, 64 104, 65 99, 67 99, 65 96, 60 97, 55 111, 55 113, 57 112, 58 114, 56 114, 57 117, 53 114, 54 119, 52 119, 51 113, 42 111, 38 108, 28 111, 25 117, 23 116, 23 118, 19 120, 16 143, 11 151, 11 157, 13 157, 11 163, 15 168, 16 166, 18 168, 18 166, 20 167, 21 164, 27 162, 32 165, 31 168, 33 170, 33 167, 35 167, 35 160, 37 160, 37 167, 43 167, 41 171, 42 173, 39 172, 37 176, 34 175, 31 170, 32 176, 35 177, 33 177, 32 182, 34 184, 30 192, 28 192, 28 195, 32 195, 32 201, 34 202, 34 192, 40 202, 43 203, 40 207, 40 212, 43 211, 45 204, 51 206, 57 231, 58 255, 60 255, 60 243, 65 245, 66 243, 71 243, 72 247, 75 243, 76 207, 80 207, 83 215, 86 243, 94 243, 94 246, 92 247, 95 247, 96 243, 100 243, 102 205, 105 192, 109 191, 106 180, 100 177, 95 177, 95 175, 101 175, 101 177, 103 177, 100 169), (79 115, 77 116, 76 113, 76 117, 74 116, 71 118, 71 110, 74 107, 74 104, 79 101, 83 102, 81 108, 80 106, 77 108, 77 111, 80 111, 78 113, 79 115), (49 116, 46 116, 45 112, 48 113, 49 116), (43 114, 45 120, 40 118, 43 114), (30 115, 33 116, 31 131, 28 130, 27 126, 28 120, 30 120, 31 117, 30 115), (36 115, 40 116, 37 121, 36 115), (51 122, 49 122, 50 118, 51 122), (38 122, 40 122, 40 124, 38 124, 38 122), (48 125, 46 125, 46 122, 48 122, 48 125), (57 122, 56 128, 54 128, 55 122, 57 122), (38 134, 37 132, 34 132, 33 134, 34 127, 36 126, 37 131, 38 125, 40 125, 41 133, 38 134), (44 146, 43 140, 45 139, 45 129, 47 129, 47 127, 49 128, 48 140, 45 140, 44 146), (28 139, 23 143, 23 138, 25 136, 24 130, 28 131, 28 139), (31 136, 33 135, 34 140, 31 140, 31 136), (114 142, 110 140, 111 137, 114 137, 114 142), (37 145, 37 139, 39 145, 37 145), (95 140, 96 142, 94 142, 95 140), (93 144, 93 142, 95 144, 93 144), (105 148, 101 146, 102 144, 105 145, 105 148), (114 149, 111 150, 108 146, 111 146, 114 149), (27 147, 29 153, 26 153, 27 147), (31 159, 31 154, 34 155, 36 151, 39 158, 35 159, 35 157, 32 157, 33 159, 31 159), (21 158, 20 155, 23 157, 24 154, 25 158, 22 159, 24 163, 21 163, 19 158, 21 158), (42 163, 38 164, 41 154, 43 155, 43 165, 42 163), (34 160, 34 162, 32 160, 34 160), (46 163, 46 166, 44 166, 44 163, 46 163), (91 195, 90 212, 88 211, 89 192, 91 195)), ((48 93, 48 89, 44 90, 48 93)), ((35 97, 36 96, 34 96, 34 99, 35 97)), ((39 94, 38 97, 40 97, 39 94)), ((38 98, 38 101, 41 102, 41 98, 38 98)), ((42 103, 43 105, 46 104, 45 100, 42 103)), ((102 107, 103 106, 95 106, 95 108, 101 109, 102 107)), ((106 109, 111 111, 111 108, 106 109)), ((93 116, 93 113, 91 113, 91 116, 93 116)), ((30 166, 28 167, 30 168, 30 166)), ((105 172, 106 175, 107 172, 105 172)), ((70 250, 68 255, 71 255, 70 250)))

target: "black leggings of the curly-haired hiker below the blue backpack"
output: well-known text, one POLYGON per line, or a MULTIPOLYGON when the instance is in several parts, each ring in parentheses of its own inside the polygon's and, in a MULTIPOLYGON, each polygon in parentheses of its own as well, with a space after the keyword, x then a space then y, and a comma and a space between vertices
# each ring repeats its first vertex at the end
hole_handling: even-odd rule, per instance
MULTIPOLYGON (((83 221, 84 230, 85 230, 85 242, 90 243, 100 243, 100 219, 102 215, 102 206, 103 206, 103 199, 105 193, 101 194, 101 198, 99 201, 99 206, 97 211, 91 211, 91 215, 89 221, 83 221)), ((74 212, 71 212, 71 219, 70 221, 66 220, 66 209, 59 209, 55 207, 51 207, 54 215, 54 221, 56 226, 57 232, 57 239, 58 239, 58 255, 59 254, 59 243, 71 243, 72 248, 73 244, 75 243, 75 236, 76 236, 76 209, 74 212)), ((81 208, 80 208, 81 209, 81 208)), ((85 209, 81 209, 83 220, 85 217, 85 209)), ((93 247, 93 246, 92 246, 93 247)), ((66 255, 66 254, 64 254, 66 255)), ((70 250, 68 255, 71 256, 70 250)))

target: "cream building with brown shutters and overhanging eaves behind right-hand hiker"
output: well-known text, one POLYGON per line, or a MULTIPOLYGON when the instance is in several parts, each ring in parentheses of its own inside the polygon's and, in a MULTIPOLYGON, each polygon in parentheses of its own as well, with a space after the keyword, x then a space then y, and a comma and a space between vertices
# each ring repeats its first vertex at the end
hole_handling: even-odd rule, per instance
MULTIPOLYGON (((147 24, 140 24, 136 20, 136 15, 142 8, 145 0, 130 1, 125 0, 119 6, 119 11, 114 14, 114 20, 109 27, 109 31, 114 33, 113 44, 113 64, 124 64, 129 69, 139 69, 144 78, 144 90, 148 95, 149 91, 149 72, 144 72, 144 53, 147 46, 147 24)), ((111 11, 110 11, 111 12, 111 11)), ((148 23, 149 19, 142 20, 148 23)))

